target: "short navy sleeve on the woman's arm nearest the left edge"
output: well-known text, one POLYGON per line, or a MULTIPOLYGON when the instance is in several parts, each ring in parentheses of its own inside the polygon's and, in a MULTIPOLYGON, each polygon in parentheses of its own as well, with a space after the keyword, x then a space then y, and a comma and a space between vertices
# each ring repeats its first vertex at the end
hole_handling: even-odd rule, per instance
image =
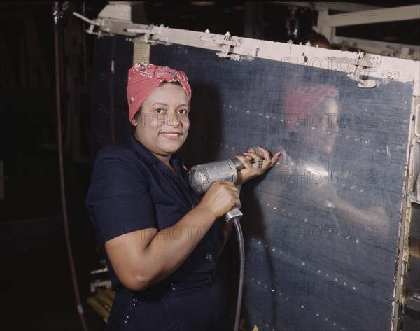
POLYGON ((87 194, 87 210, 104 242, 157 227, 150 184, 133 156, 123 152, 116 148, 99 152, 87 194))

